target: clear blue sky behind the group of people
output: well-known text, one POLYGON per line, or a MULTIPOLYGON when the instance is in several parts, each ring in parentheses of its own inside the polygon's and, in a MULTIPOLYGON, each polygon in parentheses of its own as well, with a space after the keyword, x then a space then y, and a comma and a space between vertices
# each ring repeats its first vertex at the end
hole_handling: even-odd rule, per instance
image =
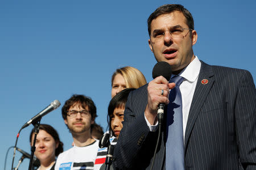
MULTIPOLYGON (((148 16, 166 3, 191 11, 199 35, 194 53, 211 65, 249 70, 256 79, 256 1, 1 1, 0 2, 0 169, 7 148, 31 117, 59 100, 60 108, 41 123, 52 125, 71 147, 61 107, 72 94, 92 97, 96 122, 106 130, 115 69, 133 66, 147 81, 156 61, 148 48, 148 16)), ((30 153, 28 135, 18 147, 30 153)), ((10 169, 13 150, 7 156, 10 169)), ((14 166, 20 154, 16 154, 14 166)), ((20 170, 28 169, 25 159, 20 170)))

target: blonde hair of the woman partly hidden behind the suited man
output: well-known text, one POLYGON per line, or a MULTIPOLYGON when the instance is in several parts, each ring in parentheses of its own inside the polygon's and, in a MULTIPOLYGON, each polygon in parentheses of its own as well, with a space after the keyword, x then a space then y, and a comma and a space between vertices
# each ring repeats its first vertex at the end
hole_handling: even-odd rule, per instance
POLYGON ((112 86, 113 86, 113 80, 115 78, 115 75, 117 74, 121 74, 125 79, 126 88, 139 88, 144 84, 147 84, 147 80, 144 77, 144 75, 141 73, 141 71, 139 71, 134 67, 126 66, 126 67, 122 67, 120 69, 115 70, 111 80, 112 86))

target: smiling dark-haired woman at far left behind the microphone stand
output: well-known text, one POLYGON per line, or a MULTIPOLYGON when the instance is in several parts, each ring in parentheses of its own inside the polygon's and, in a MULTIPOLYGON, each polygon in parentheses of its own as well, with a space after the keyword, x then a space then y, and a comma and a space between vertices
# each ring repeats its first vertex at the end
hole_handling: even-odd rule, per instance
MULTIPOLYGON (((30 133, 30 145, 34 141, 34 130, 30 133)), ((52 170, 55 166, 56 157, 63 152, 63 143, 59 134, 47 124, 41 124, 39 133, 36 136, 35 156, 40 160, 40 167, 37 170, 52 170)))

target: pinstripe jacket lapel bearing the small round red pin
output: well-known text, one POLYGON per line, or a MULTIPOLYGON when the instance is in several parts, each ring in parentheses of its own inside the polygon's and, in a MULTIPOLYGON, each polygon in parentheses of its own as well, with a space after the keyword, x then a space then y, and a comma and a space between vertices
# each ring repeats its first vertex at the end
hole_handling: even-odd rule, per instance
POLYGON ((212 85, 214 82, 212 66, 207 65, 203 61, 200 61, 200 62, 201 62, 201 69, 200 69, 199 78, 197 80, 195 93, 193 95, 193 100, 192 100, 191 107, 188 114, 187 128, 185 130, 185 142, 184 142, 185 152, 187 151, 188 139, 193 129, 193 126, 196 122, 196 118, 200 113, 201 107, 203 106, 204 101, 210 89, 212 88, 212 85), (208 83, 206 82, 202 83, 203 79, 208 80, 208 83))

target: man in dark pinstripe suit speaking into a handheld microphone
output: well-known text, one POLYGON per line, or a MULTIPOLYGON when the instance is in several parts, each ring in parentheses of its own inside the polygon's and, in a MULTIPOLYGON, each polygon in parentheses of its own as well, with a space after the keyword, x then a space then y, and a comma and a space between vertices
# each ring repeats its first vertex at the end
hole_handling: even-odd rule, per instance
MULTIPOLYGON (((166 133, 172 126, 166 124, 152 169, 256 169, 256 91, 251 74, 199 61, 192 49, 197 41, 193 18, 181 5, 156 9, 148 18, 148 33, 156 60, 168 62, 172 74, 182 78, 176 86, 182 99, 179 107, 184 142, 167 144, 167 136, 170 139, 174 134, 166 133), (175 168, 172 164, 179 160, 170 156, 180 155, 167 153, 180 143, 184 144, 182 165, 175 168), (167 168, 170 162, 173 168, 167 168)), ((175 88, 175 83, 158 76, 131 92, 114 150, 116 169, 150 169, 159 130, 158 105, 164 103, 168 108, 175 88)), ((164 110, 168 122, 171 113, 164 110)))

